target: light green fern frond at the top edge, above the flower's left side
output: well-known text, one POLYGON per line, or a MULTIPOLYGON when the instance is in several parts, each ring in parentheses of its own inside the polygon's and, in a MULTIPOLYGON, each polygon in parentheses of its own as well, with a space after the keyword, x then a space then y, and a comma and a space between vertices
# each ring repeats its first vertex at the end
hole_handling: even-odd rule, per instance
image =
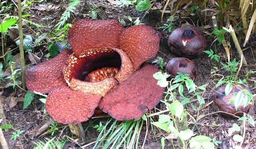
POLYGON ((79 6, 79 4, 80 4, 80 0, 70 0, 70 3, 68 4, 67 9, 61 15, 61 19, 59 20, 59 22, 56 24, 55 27, 59 29, 61 28, 61 26, 64 26, 67 19, 70 18, 70 14, 75 12, 76 6, 79 6))

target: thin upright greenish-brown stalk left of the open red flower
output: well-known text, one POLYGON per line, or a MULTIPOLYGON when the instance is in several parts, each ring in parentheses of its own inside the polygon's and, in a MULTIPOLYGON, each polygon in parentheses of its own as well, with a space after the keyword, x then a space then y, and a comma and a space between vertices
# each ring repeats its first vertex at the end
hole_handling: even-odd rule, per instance
POLYGON ((26 89, 24 72, 25 72, 25 60, 24 60, 24 50, 23 50, 23 30, 22 30, 22 14, 21 14, 21 0, 18 0, 18 27, 19 27, 19 36, 20 36, 20 65, 21 65, 21 82, 22 88, 26 89))

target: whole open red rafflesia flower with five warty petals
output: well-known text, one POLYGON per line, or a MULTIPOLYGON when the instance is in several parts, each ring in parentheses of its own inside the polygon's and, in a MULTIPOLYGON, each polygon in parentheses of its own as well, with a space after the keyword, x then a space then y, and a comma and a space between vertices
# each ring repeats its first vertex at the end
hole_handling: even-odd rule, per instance
POLYGON ((46 111, 58 123, 87 121, 97 106, 117 120, 139 118, 159 103, 151 65, 160 37, 149 26, 124 29, 117 20, 79 20, 69 30, 71 50, 25 72, 30 92, 49 93, 46 111))

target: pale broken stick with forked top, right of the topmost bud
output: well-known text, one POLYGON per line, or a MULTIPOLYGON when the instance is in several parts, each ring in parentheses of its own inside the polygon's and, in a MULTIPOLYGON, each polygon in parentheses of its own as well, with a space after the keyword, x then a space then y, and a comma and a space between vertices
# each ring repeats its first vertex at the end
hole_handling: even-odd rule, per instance
POLYGON ((246 60, 245 60, 245 58, 244 58, 243 51, 242 51, 241 46, 240 46, 240 44, 239 44, 239 42, 238 42, 238 40, 237 40, 236 33, 235 33, 233 27, 230 25, 230 26, 229 26, 229 29, 227 29, 227 28, 225 28, 225 27, 222 27, 222 28, 225 29, 227 32, 229 32, 229 33, 231 34, 231 36, 232 36, 232 38, 233 38, 233 41, 234 41, 234 43, 235 43, 235 46, 236 46, 236 50, 237 50, 237 52, 238 52, 240 58, 243 57, 243 64, 244 64, 244 65, 247 65, 247 62, 246 62, 246 60))

